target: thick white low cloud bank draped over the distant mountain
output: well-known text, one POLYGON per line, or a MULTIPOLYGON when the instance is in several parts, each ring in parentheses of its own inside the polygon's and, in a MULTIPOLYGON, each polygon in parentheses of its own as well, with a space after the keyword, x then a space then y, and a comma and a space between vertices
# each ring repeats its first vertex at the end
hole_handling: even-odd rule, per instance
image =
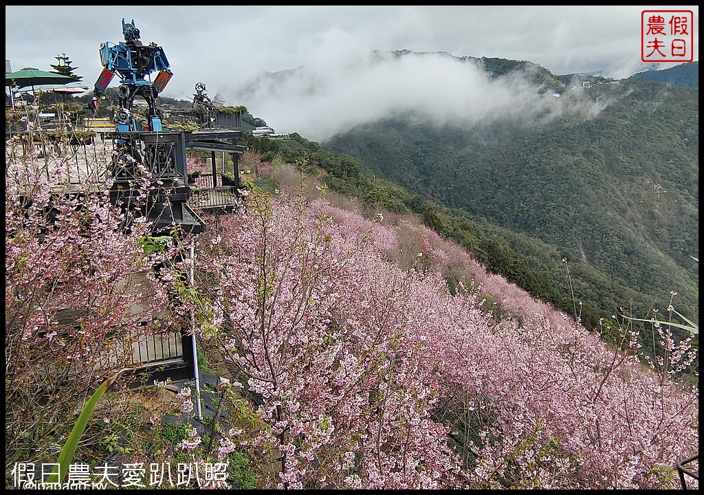
MULTIPOLYGON (((223 94, 277 132, 325 142, 355 125, 399 113, 436 125, 473 126, 498 119, 545 122, 575 111, 574 99, 555 97, 558 86, 536 84, 539 70, 534 66, 492 78, 472 59, 376 52, 263 73, 223 94)), ((589 115, 604 106, 582 105, 589 115)))

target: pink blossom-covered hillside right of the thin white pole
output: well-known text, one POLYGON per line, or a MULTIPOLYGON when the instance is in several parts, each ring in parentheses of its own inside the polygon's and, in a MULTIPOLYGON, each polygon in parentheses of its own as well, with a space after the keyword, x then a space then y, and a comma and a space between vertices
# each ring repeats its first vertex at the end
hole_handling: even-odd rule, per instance
POLYGON ((264 486, 678 486, 698 449, 698 391, 672 381, 688 342, 663 332, 646 368, 634 334, 610 348, 432 232, 402 268, 398 232, 255 189, 199 241, 215 339, 263 399, 266 426, 238 440, 279 461, 264 486), (424 257, 462 258, 475 289, 451 294, 424 257), (521 318, 495 322, 486 293, 521 318))

